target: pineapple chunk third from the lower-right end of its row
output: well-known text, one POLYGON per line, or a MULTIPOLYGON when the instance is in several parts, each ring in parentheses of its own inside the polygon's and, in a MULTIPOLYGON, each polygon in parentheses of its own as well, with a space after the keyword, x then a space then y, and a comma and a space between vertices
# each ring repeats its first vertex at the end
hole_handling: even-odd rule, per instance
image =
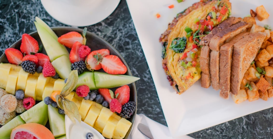
POLYGON ((108 119, 111 117, 113 112, 111 112, 110 109, 106 107, 102 107, 102 110, 100 111, 99 117, 95 123, 94 128, 97 129, 100 133, 102 133, 103 128, 105 127, 108 119))

